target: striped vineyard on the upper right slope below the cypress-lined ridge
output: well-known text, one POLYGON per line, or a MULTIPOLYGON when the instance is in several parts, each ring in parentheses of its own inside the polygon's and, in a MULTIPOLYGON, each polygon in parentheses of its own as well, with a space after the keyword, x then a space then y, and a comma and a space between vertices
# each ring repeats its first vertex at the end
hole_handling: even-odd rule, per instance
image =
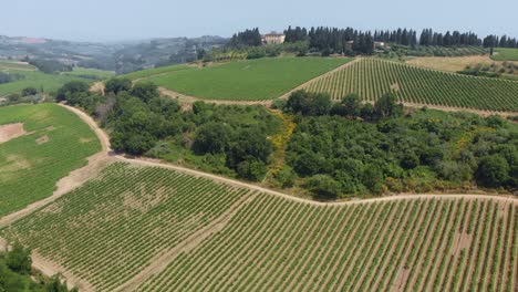
POLYGON ((358 93, 375 101, 395 91, 401 102, 483 111, 518 112, 518 82, 474 77, 364 59, 308 85, 334 100, 358 93))

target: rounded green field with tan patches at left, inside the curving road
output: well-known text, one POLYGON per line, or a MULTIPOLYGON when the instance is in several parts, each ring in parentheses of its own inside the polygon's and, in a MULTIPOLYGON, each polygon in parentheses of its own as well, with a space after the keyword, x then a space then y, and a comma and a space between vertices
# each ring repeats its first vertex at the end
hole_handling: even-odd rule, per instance
POLYGON ((90 127, 54 104, 0 107, 0 125, 12 123, 28 134, 0 144, 0 216, 49 197, 60 178, 101 150, 90 127))

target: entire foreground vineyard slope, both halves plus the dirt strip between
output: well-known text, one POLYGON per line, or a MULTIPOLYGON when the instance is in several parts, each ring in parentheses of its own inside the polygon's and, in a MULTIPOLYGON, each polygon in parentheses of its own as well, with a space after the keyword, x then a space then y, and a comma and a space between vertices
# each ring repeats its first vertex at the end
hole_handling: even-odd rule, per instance
POLYGON ((100 291, 515 291, 516 200, 309 204, 114 164, 2 230, 100 291))

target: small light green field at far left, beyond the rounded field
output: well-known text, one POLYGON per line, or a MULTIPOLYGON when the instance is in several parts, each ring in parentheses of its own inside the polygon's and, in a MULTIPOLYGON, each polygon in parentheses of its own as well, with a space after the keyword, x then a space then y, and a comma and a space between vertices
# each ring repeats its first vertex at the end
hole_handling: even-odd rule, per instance
POLYGON ((90 82, 92 80, 82 79, 74 75, 64 75, 64 74, 44 74, 39 71, 20 71, 20 70, 9 70, 11 73, 21 74, 25 77, 15 82, 0 84, 0 97, 20 93, 25 87, 35 87, 37 90, 43 88, 44 92, 54 92, 58 91, 63 84, 74 80, 83 80, 90 82))

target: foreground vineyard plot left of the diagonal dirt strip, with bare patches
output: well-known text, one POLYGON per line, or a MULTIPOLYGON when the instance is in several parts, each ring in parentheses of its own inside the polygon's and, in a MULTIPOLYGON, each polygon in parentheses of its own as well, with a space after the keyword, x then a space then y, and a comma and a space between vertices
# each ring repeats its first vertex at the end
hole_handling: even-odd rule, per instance
POLYGON ((248 192, 117 163, 3 234, 38 249, 96 290, 112 291, 248 192))

